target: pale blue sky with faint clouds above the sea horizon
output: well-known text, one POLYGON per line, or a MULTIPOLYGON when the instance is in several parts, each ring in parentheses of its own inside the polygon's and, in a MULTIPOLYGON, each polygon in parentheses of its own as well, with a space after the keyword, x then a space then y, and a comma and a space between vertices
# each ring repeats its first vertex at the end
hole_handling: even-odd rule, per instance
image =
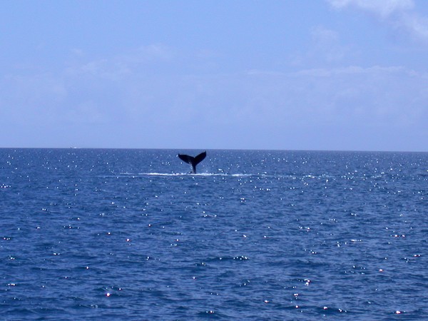
POLYGON ((4 0, 0 148, 428 151, 426 0, 4 0))

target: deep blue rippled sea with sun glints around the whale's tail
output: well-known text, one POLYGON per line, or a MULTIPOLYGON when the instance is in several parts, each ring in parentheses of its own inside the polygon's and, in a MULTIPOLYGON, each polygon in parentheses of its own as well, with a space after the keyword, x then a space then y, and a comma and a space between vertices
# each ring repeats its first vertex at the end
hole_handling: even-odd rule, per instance
POLYGON ((428 153, 0 149, 3 320, 427 320, 428 153))

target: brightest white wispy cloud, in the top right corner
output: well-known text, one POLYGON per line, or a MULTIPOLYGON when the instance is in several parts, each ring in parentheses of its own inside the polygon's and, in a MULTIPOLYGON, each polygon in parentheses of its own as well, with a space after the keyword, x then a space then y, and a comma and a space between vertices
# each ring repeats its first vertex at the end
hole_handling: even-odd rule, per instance
POLYGON ((413 0, 327 0, 335 9, 353 8, 378 16, 394 29, 407 31, 428 41, 428 19, 421 16, 413 0))

